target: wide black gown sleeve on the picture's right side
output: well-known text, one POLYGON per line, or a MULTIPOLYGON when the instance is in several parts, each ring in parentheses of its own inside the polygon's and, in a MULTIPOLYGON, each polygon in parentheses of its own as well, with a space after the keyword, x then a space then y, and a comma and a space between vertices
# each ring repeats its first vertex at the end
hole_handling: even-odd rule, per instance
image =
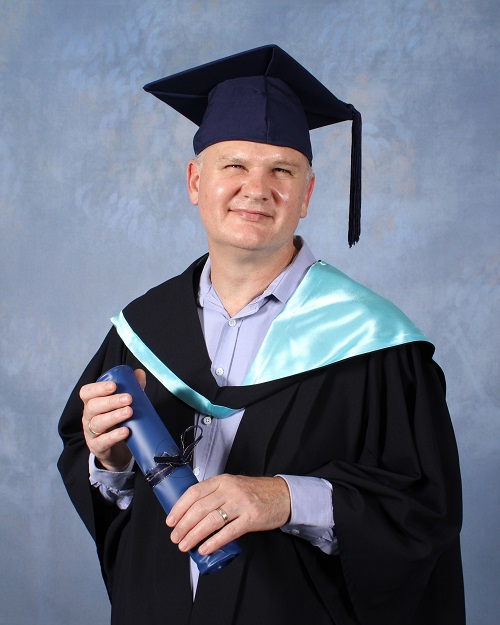
POLYGON ((353 402, 359 414, 345 415, 357 452, 314 472, 333 485, 354 609, 362 623, 460 625, 461 481, 444 377, 410 344, 370 355, 362 388, 359 381, 346 387, 362 398, 353 402))

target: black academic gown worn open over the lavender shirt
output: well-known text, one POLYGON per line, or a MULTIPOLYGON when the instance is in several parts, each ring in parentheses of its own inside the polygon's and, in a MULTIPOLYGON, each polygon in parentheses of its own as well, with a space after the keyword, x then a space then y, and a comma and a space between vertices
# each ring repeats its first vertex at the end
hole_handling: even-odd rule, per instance
MULTIPOLYGON (((457 449, 432 346, 410 343, 251 387, 219 388, 196 309, 200 264, 125 309, 142 340, 212 403, 246 406, 226 472, 310 475, 333 485, 339 555, 281 530, 248 534, 242 555, 200 578, 140 473, 126 511, 88 481, 83 384, 140 366, 113 329, 60 421, 59 469, 96 541, 112 623, 462 625, 457 449)), ((147 394, 175 440, 193 409, 152 375, 147 394)))

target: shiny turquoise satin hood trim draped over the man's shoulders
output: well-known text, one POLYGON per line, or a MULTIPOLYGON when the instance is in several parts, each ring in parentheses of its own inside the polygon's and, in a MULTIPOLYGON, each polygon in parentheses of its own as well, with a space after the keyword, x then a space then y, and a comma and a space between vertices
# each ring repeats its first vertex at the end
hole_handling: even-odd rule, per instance
MULTIPOLYGON (((176 397, 219 419, 237 412, 212 404, 185 384, 134 332, 123 312, 111 322, 127 348, 176 397)), ((243 385, 414 341, 428 339, 394 304, 319 261, 271 324, 243 385)))

